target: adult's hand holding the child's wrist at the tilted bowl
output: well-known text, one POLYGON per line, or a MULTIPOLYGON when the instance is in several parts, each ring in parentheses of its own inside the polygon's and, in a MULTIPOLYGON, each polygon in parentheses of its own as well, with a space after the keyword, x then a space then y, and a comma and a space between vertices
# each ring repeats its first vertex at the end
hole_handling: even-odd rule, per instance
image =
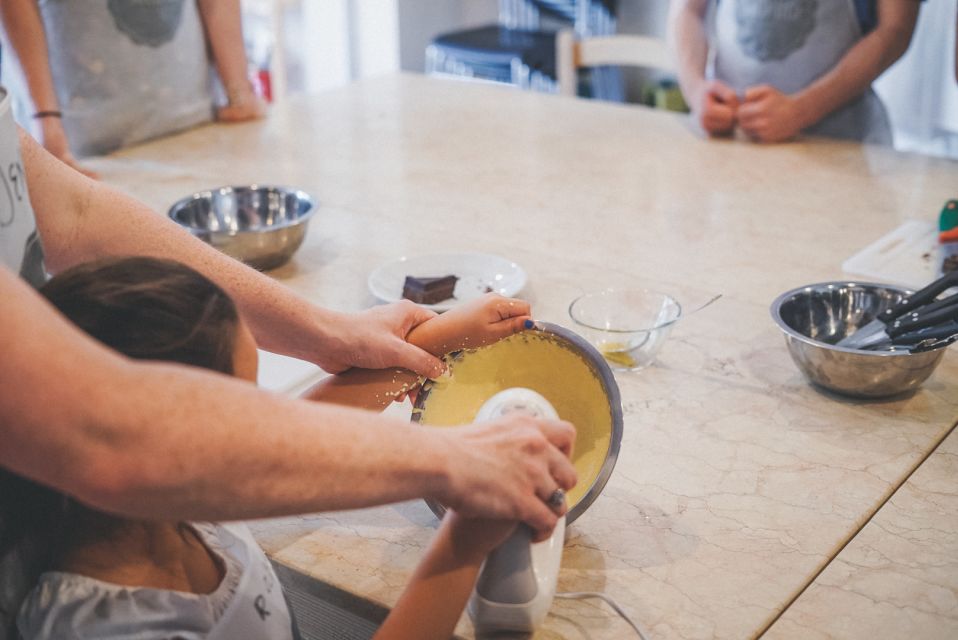
POLYGON ((435 378, 443 372, 439 358, 406 342, 414 327, 435 316, 408 300, 339 314, 314 361, 330 373, 401 367, 435 378))

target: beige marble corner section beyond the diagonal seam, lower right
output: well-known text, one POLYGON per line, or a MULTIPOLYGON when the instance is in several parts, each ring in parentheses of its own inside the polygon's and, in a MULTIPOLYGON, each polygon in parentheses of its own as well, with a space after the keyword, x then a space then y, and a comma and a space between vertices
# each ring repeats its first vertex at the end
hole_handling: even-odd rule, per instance
POLYGON ((958 638, 958 433, 769 629, 767 638, 958 638))

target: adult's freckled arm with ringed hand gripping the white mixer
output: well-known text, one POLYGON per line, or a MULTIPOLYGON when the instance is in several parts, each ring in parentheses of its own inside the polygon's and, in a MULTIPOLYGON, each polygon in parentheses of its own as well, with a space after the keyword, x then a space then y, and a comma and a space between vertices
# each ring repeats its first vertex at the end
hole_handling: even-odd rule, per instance
POLYGON ((104 511, 231 520, 429 497, 556 522, 574 431, 525 416, 435 430, 121 357, 0 268, 0 466, 104 511))

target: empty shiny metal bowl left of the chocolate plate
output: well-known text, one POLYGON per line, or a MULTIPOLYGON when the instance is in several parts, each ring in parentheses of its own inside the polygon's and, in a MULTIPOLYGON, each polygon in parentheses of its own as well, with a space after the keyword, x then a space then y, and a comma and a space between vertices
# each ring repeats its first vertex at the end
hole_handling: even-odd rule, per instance
POLYGON ((309 194, 286 187, 220 187, 183 198, 169 216, 228 256, 274 269, 299 249, 315 206, 309 194))

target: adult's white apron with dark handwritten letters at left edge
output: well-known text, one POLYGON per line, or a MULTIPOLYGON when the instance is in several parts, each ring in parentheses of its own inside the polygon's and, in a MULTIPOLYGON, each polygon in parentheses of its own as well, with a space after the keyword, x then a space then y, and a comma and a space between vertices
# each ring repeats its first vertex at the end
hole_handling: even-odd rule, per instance
POLYGON ((11 98, 0 87, 0 263, 35 287, 46 281, 11 98))

